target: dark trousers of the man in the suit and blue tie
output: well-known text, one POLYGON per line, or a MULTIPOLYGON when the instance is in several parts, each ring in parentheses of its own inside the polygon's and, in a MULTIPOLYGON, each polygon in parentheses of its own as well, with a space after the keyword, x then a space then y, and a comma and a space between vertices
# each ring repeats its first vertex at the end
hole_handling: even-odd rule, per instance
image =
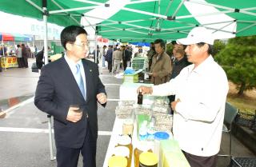
POLYGON ((57 147, 58 167, 77 167, 80 152, 83 157, 83 167, 96 167, 96 146, 97 141, 92 139, 90 128, 87 126, 86 137, 82 148, 57 147))

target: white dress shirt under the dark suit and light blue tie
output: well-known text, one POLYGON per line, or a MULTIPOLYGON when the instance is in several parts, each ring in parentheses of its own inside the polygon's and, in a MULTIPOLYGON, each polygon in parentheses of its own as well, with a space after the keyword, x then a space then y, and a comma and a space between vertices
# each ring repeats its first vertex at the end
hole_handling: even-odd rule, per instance
MULTIPOLYGON (((75 63, 73 60, 71 60, 66 55, 64 56, 64 58, 65 58, 67 64, 70 66, 70 70, 71 70, 74 78, 75 78, 76 72, 77 72, 76 65, 79 64, 79 66, 80 66, 80 73, 82 75, 83 85, 84 85, 84 88, 85 88, 85 91, 86 91, 86 73, 85 73, 85 70, 84 70, 83 65, 82 65, 82 60, 79 60, 77 63, 75 63)), ((86 94, 85 94, 85 100, 86 100, 86 94)))

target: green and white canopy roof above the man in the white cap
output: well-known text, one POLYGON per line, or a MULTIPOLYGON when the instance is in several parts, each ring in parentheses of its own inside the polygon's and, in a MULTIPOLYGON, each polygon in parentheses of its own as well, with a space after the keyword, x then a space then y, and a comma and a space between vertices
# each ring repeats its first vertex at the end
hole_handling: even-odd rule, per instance
MULTIPOLYGON (((84 1, 79 0, 79 2, 84 1)), ((104 38, 122 39, 125 42, 185 38, 195 26, 205 26, 212 30, 215 38, 248 36, 256 34, 256 2, 254 0, 131 1, 126 2, 126 6, 111 18, 93 26, 97 26, 97 34, 104 38)))

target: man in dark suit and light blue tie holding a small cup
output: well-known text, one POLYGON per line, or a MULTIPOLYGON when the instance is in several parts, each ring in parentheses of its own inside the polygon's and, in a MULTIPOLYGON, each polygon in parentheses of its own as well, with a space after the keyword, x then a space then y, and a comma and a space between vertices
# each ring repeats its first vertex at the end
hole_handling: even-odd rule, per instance
POLYGON ((87 33, 80 26, 62 30, 64 58, 43 66, 34 104, 54 116, 58 167, 76 167, 79 153, 84 167, 96 167, 97 101, 106 105, 106 90, 98 66, 84 59, 87 33))

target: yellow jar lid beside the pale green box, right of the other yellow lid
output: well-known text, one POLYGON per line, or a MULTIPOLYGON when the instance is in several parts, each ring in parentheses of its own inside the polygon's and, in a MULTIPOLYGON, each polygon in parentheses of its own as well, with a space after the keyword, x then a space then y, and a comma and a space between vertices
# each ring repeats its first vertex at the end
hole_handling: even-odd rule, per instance
POLYGON ((157 165, 158 157, 155 153, 143 152, 139 155, 139 162, 147 166, 157 165))

